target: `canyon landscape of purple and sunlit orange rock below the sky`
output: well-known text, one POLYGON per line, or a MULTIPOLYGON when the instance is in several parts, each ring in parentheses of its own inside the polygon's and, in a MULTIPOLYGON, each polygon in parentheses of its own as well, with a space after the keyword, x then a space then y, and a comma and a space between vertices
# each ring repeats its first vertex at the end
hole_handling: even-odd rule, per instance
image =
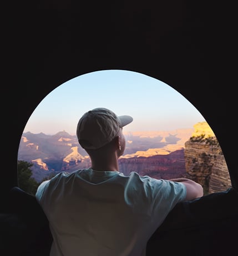
MULTIPOLYGON (((125 134, 126 149, 119 158, 124 175, 138 172, 158 179, 191 178, 205 194, 226 190, 230 176, 222 150, 206 122, 194 129, 125 134)), ((55 174, 90 167, 90 158, 77 137, 65 131, 54 135, 23 133, 18 160, 33 163, 32 177, 41 182, 55 174)))

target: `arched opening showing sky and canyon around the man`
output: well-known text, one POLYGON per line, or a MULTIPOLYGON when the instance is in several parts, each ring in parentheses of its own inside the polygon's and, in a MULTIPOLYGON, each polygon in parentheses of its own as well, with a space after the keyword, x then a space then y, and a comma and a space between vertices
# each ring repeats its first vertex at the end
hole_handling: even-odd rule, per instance
POLYGON ((159 179, 188 177, 205 194, 231 187, 220 145, 198 109, 168 84, 119 69, 70 79, 39 103, 19 146, 18 160, 29 163, 21 162, 28 175, 18 168, 20 187, 34 194, 44 179, 90 167, 75 132, 79 117, 96 107, 134 118, 124 129, 127 144, 119 159, 125 175, 134 170, 159 179))

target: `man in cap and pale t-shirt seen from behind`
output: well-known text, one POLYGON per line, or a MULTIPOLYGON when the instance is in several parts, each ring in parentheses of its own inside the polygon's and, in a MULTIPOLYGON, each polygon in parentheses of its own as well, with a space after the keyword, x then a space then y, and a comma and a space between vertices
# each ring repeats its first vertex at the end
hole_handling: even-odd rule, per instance
POLYGON ((106 108, 79 119, 78 141, 92 167, 55 175, 36 193, 53 235, 50 256, 145 255, 146 243, 170 210, 203 195, 201 185, 189 179, 119 172, 123 127, 132 121, 106 108))

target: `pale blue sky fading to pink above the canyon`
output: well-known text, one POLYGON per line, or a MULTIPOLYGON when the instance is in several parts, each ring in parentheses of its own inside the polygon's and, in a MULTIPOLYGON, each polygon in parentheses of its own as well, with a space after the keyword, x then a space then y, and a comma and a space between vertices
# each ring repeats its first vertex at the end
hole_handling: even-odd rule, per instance
MULTIPOLYGON (((172 86, 172 85, 171 85, 172 86)), ((87 73, 60 84, 36 107, 24 132, 76 134, 79 118, 93 108, 111 109, 133 122, 124 132, 193 128, 201 113, 169 84, 138 72, 107 70, 87 73)))

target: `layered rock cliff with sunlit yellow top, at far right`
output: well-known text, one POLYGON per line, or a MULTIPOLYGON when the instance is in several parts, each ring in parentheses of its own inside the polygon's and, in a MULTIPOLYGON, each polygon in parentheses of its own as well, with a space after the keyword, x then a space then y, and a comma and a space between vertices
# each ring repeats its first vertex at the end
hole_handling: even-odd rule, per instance
POLYGON ((206 122, 196 124, 194 129, 185 143, 186 177, 200 183, 204 194, 226 190, 231 181, 219 142, 206 122))

